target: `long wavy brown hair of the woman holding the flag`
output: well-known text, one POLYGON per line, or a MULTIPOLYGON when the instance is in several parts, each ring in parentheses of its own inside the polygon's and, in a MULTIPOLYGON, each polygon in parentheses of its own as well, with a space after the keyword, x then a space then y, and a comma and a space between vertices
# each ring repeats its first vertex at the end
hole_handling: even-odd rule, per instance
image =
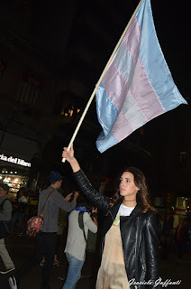
MULTIPOLYGON (((137 203, 139 204, 141 208, 141 212, 145 213, 148 210, 155 211, 155 209, 153 208, 150 202, 150 192, 149 192, 147 181, 143 172, 141 172, 141 170, 134 168, 134 167, 128 167, 127 169, 123 170, 123 172, 132 172, 134 176, 134 183, 140 189, 137 192, 137 203)), ((120 175, 120 177, 121 176, 122 174, 120 175)), ((119 183, 120 183, 120 178, 118 180, 118 189, 116 193, 114 194, 113 202, 111 203, 111 206, 113 206, 119 199, 122 199, 122 196, 120 195, 120 191, 119 191, 119 183)))

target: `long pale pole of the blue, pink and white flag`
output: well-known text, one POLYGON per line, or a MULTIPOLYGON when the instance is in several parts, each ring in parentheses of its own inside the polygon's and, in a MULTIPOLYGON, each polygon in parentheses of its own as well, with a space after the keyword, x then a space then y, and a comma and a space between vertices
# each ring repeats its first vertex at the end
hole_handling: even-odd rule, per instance
MULTIPOLYGON (((99 80, 98 80, 97 83, 96 83, 96 88, 95 88, 94 91, 92 92, 92 95, 91 95, 91 97, 89 98, 89 100, 88 100, 88 102, 87 102, 87 104, 86 104, 85 110, 84 110, 82 116, 81 116, 80 119, 79 119, 79 122, 78 122, 78 124, 77 124, 77 128, 76 128, 76 130, 75 130, 75 132, 74 132, 74 135, 72 135, 72 138, 71 138, 71 140, 70 140, 70 142, 69 142, 69 144, 68 144, 68 150, 70 149, 71 144, 74 143, 74 140, 75 140, 75 138, 76 138, 76 136, 77 136, 77 132, 78 132, 78 130, 79 130, 79 127, 81 126, 81 124, 82 124, 82 122, 83 122, 83 120, 84 120, 84 118, 85 118, 85 116, 86 116, 86 112, 87 112, 88 108, 90 107, 90 105, 91 105, 91 103, 92 103, 92 100, 93 100, 94 97, 95 97, 96 89, 98 89, 98 87, 99 87, 99 85, 100 85, 100 83, 101 83, 101 81, 102 81, 102 79, 103 79, 103 77, 104 77, 104 75, 105 75, 105 71, 107 70, 110 62, 111 62, 112 59, 114 58, 114 54, 116 53, 116 51, 118 50, 121 42, 123 41, 123 37, 124 37, 125 33, 127 32, 129 26, 130 26, 131 23, 132 23, 132 19, 133 19, 134 15, 137 13, 138 9, 140 8, 142 1, 143 1, 143 0, 141 0, 140 3, 137 5, 134 13, 132 14, 132 17, 131 17, 129 23, 127 24, 127 26, 125 27, 125 29, 124 29, 124 31, 123 31, 123 34, 122 34, 120 40, 119 40, 119 41, 117 42, 117 44, 116 44, 116 46, 115 46, 115 48, 114 48, 114 51, 113 51, 112 55, 110 56, 109 61, 107 61, 107 64, 105 65, 105 69, 103 70, 103 72, 102 72, 99 80)), ((65 158, 62 158, 62 163, 65 163, 65 158)))

